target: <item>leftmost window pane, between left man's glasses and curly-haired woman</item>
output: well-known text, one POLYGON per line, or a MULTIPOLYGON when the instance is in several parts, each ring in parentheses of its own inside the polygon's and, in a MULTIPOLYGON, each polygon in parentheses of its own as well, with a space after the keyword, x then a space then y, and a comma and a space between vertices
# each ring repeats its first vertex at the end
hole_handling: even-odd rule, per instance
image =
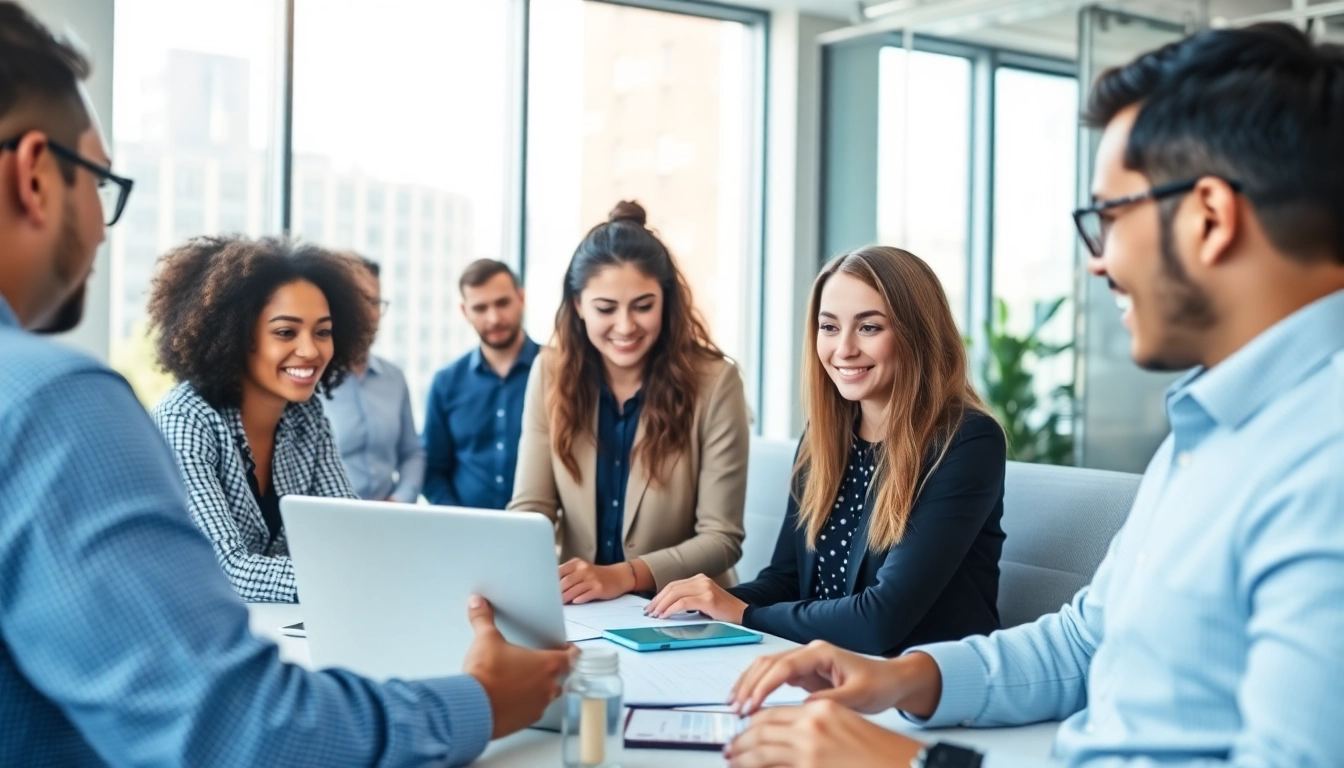
POLYGON ((181 239, 214 234, 210 222, 253 235, 278 230, 269 184, 238 178, 270 178, 278 160, 280 4, 116 0, 113 157, 136 190, 108 233, 110 352, 146 405, 172 385, 145 335, 157 257, 181 239), (210 206, 218 213, 207 215, 210 206))

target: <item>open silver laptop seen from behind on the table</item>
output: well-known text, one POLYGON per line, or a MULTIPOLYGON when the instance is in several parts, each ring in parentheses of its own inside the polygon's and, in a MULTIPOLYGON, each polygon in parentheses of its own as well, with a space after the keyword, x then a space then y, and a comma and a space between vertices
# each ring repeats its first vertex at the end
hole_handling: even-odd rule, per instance
POLYGON ((284 496, 280 511, 314 668, 460 674, 472 594, 491 601, 508 642, 566 646, 555 534, 540 514, 310 496, 284 496))

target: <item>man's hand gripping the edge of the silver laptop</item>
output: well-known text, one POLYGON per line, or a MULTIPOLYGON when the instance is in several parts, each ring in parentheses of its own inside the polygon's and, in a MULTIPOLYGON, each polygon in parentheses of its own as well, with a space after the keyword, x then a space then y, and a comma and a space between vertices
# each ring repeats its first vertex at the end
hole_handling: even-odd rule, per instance
POLYGON ((466 651, 462 671, 476 678, 491 699, 495 730, 491 738, 508 736, 542 718, 546 705, 560 695, 560 679, 570 671, 578 648, 534 651, 512 646, 495 627, 495 609, 472 596, 466 616, 476 640, 466 651))

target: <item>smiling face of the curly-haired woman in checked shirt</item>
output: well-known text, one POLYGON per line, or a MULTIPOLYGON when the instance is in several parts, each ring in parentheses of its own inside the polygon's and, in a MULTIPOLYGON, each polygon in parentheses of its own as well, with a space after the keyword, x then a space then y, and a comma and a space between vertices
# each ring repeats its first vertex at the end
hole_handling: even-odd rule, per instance
POLYGON ((306 401, 313 397, 332 351, 327 296, 306 280, 281 285, 257 319, 243 398, 306 401))

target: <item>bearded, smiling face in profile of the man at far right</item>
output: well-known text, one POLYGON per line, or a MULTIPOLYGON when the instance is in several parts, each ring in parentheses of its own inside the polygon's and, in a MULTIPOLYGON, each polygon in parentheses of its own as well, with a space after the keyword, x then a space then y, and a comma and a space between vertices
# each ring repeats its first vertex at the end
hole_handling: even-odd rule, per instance
MULTIPOLYGON (((1121 110, 1097 148, 1093 196, 1098 200, 1141 194, 1152 187, 1142 174, 1125 167, 1125 148, 1138 108, 1121 110)), ((1179 202, 1184 206, 1184 200, 1179 202)), ((1159 203, 1142 200, 1102 214, 1106 237, 1101 258, 1087 270, 1105 277, 1121 321, 1133 336, 1130 354, 1149 370, 1181 370, 1200 362, 1203 332, 1215 323, 1207 292, 1189 276, 1196 266, 1183 261, 1176 241, 1180 210, 1164 227, 1159 203)))

